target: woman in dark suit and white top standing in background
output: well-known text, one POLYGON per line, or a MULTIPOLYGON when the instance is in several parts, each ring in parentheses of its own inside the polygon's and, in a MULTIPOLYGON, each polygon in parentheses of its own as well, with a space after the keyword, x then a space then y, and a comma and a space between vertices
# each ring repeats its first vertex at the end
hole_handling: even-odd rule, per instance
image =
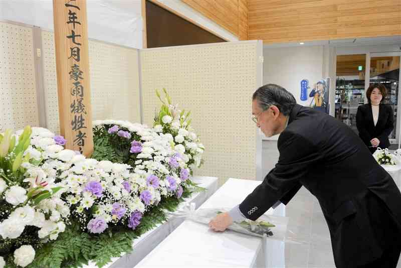
POLYGON ((371 153, 377 147, 388 148, 390 135, 394 128, 394 113, 390 105, 380 103, 387 94, 382 84, 371 84, 366 91, 368 103, 358 107, 356 112, 356 127, 359 137, 371 153))

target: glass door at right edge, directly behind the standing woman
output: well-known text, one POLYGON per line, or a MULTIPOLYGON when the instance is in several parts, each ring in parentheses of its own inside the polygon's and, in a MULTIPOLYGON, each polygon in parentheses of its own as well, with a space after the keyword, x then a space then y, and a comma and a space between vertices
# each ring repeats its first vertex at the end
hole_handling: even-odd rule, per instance
MULTIPOLYGON (((387 96, 382 103, 389 104, 394 112, 394 130, 389 135, 390 144, 399 141, 399 62, 401 52, 370 53, 369 84, 380 83, 387 89, 387 96)), ((391 146, 390 149, 396 149, 391 146)))

